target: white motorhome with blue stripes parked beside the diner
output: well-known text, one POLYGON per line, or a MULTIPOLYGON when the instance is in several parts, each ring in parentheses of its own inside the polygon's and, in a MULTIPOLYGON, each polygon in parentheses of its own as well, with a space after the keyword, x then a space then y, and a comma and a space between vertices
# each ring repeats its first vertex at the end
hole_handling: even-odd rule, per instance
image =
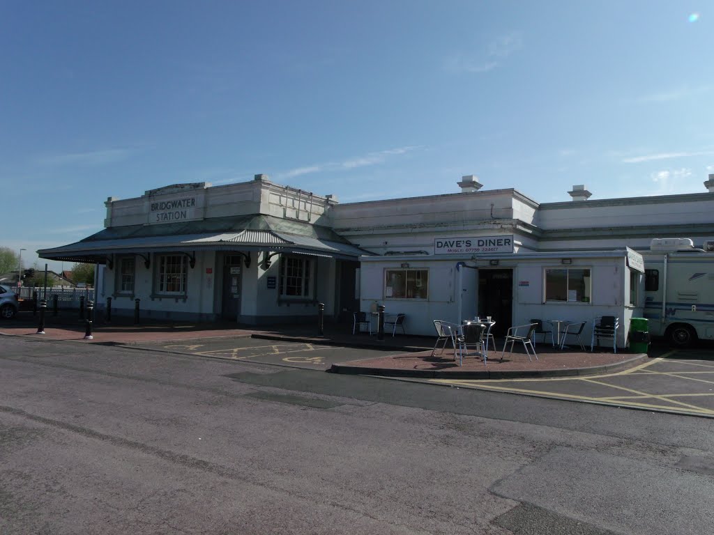
POLYGON ((675 347, 714 340, 714 241, 655 238, 645 261, 645 317, 651 335, 675 347))

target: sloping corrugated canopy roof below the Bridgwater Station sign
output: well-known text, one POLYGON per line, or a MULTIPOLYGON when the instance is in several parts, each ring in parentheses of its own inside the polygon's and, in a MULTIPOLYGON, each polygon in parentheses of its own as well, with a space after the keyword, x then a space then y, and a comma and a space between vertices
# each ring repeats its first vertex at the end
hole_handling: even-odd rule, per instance
POLYGON ((110 227, 69 245, 37 251, 40 258, 93 264, 114 255, 198 251, 270 251, 341 260, 371 255, 331 228, 271 215, 241 215, 164 225, 110 227))

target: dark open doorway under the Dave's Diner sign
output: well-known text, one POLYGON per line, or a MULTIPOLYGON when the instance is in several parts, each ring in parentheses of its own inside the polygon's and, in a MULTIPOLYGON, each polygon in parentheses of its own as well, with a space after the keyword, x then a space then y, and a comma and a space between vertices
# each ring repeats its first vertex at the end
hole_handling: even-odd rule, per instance
POLYGON ((493 335, 506 336, 513 318, 513 270, 478 270, 478 316, 491 316, 493 335))

